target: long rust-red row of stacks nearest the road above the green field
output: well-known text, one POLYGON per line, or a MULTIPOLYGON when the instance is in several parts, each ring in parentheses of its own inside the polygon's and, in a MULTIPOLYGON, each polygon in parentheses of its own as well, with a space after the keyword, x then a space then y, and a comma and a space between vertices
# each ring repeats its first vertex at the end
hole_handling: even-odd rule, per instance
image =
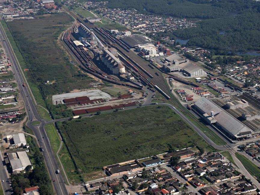
POLYGON ((95 113, 98 111, 106 111, 106 110, 112 110, 112 109, 120 109, 120 108, 124 108, 124 107, 131 107, 131 106, 135 106, 135 105, 136 105, 135 102, 131 102, 128 104, 119 104, 116 106, 102 106, 102 107, 95 107, 95 108, 88 108, 88 109, 81 109, 81 110, 73 110, 72 113, 76 116, 76 115, 87 114, 87 113, 95 113))

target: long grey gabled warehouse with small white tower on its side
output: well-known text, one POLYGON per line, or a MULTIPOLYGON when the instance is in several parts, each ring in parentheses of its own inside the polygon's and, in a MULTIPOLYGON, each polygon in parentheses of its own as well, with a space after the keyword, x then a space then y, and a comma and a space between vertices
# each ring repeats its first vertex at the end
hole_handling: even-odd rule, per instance
POLYGON ((195 102, 195 109, 207 123, 215 124, 231 139, 251 137, 251 129, 207 98, 195 102))

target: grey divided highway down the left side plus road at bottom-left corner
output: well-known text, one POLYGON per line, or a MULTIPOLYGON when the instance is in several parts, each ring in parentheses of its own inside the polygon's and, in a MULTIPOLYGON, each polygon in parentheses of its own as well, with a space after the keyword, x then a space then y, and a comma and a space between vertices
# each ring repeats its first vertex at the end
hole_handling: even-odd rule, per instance
MULTIPOLYGON (((32 98, 30 96, 30 93, 27 89, 28 83, 26 80, 23 79, 23 76, 21 75, 22 70, 21 68, 18 66, 17 61, 15 60, 15 56, 11 50, 11 46, 9 45, 9 41, 5 35, 5 32, 2 28, 2 25, 0 25, 0 33, 1 33, 1 39, 5 39, 6 41, 3 41, 3 47, 5 48, 5 52, 7 53, 7 58, 9 58, 10 63, 12 64, 12 70, 14 73, 14 77, 17 80, 17 84, 20 90, 20 94, 23 97, 24 100, 24 104, 25 104, 25 109, 26 109, 26 113, 28 116, 28 123, 27 126, 29 128, 32 129, 32 131, 34 132, 35 136, 37 137, 37 139, 39 141, 42 141, 42 143, 40 144, 40 146, 44 147, 44 152, 43 152, 43 156, 44 156, 44 160, 46 162, 46 166, 48 169, 48 172, 50 174, 50 178, 52 180, 52 184, 54 186, 54 190, 56 192, 56 194, 68 194, 62 175, 61 174, 56 174, 55 171, 58 169, 57 163, 55 161, 54 158, 54 154, 52 153, 52 150, 50 148, 50 144, 49 144, 49 140, 47 138, 46 132, 44 130, 44 124, 46 123, 45 121, 42 121, 41 124, 38 127, 35 127, 34 125, 32 125, 31 121, 34 120, 39 120, 41 121, 41 118, 38 114, 38 111, 35 107, 35 105, 33 104, 32 98), (22 82, 26 83, 26 87, 22 86, 22 82), (44 138, 43 138, 44 137, 44 138), (55 180, 55 182, 53 182, 55 180)), ((39 143, 39 142, 38 142, 39 143)), ((1 163, 1 167, 0 167, 1 171, 1 180, 7 180, 5 170, 6 167, 3 166, 3 164, 1 163), (2 179, 3 178, 3 179, 2 179)), ((6 185, 5 182, 2 182, 3 184, 3 190, 5 191, 5 194, 10 194, 8 193, 8 191, 11 190, 11 186, 6 185)))

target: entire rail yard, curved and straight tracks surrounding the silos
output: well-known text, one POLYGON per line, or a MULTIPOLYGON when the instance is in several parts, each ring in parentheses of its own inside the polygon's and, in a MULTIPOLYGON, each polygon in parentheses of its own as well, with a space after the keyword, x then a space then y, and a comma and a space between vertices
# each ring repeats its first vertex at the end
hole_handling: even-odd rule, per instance
MULTIPOLYGON (((74 16, 78 20, 79 25, 83 26, 85 29, 87 29, 87 31, 90 32, 91 29, 92 32, 93 30, 93 33, 95 33, 95 36, 99 40, 99 42, 101 41, 103 44, 107 45, 108 47, 117 49, 119 52, 119 59, 124 62, 126 68, 130 70, 130 72, 136 78, 138 78, 143 85, 148 85, 150 88, 154 88, 157 91, 159 91, 165 98, 171 99, 171 93, 164 79, 161 69, 156 67, 154 64, 145 61, 140 56, 136 55, 132 50, 130 50, 129 46, 124 44, 124 42, 122 42, 121 40, 115 38, 115 36, 110 34, 107 30, 98 28, 91 23, 84 22, 83 17, 80 16, 79 14, 75 14, 73 12, 70 12, 70 14, 72 14, 72 16, 74 16)), ((99 79, 114 84, 125 85, 128 87, 138 88, 138 89, 142 88, 142 85, 129 84, 128 82, 120 81, 120 79, 115 79, 115 77, 110 76, 107 73, 101 71, 99 68, 97 68, 92 62, 87 52, 84 51, 84 49, 73 47, 72 41, 74 40, 74 38, 73 36, 71 36, 71 33, 73 32, 74 29, 75 26, 68 29, 66 32, 64 32, 62 36, 62 41, 64 41, 66 46, 68 46, 70 51, 75 55, 75 57, 81 63, 81 68, 84 71, 93 74, 99 79)), ((104 47, 102 43, 100 45, 104 47)), ((167 77, 173 78, 176 81, 194 86, 192 82, 186 81, 177 76, 173 76, 167 73, 166 75, 167 77)))

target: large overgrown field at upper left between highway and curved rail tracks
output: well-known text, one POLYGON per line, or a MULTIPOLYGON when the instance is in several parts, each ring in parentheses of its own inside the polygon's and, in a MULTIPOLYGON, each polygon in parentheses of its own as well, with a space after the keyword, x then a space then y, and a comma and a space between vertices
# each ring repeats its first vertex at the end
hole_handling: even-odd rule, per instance
POLYGON ((60 34, 72 21, 68 14, 57 13, 2 22, 22 69, 29 68, 24 73, 37 103, 52 111, 56 107, 50 109, 51 95, 90 88, 94 82, 73 65, 59 45, 60 34), (54 82, 46 85, 46 81, 54 82))

